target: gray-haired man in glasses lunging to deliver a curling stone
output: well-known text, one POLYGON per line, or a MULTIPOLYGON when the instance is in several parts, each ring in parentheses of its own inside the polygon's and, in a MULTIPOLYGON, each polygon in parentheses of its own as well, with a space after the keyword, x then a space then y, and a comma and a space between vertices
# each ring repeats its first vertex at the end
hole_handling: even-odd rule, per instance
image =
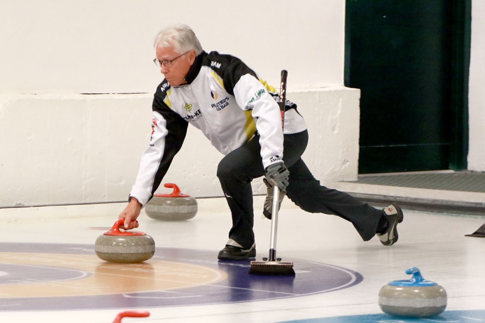
MULTIPOLYGON (((138 226, 132 220, 160 185, 190 123, 225 155, 217 177, 231 210, 232 228, 219 259, 256 256, 251 181, 261 176, 267 179, 269 195, 273 189, 269 183, 276 183, 302 209, 350 221, 364 241, 376 234, 384 245, 398 240, 396 227, 403 221, 398 206, 376 209, 320 186, 301 158, 308 133, 296 104, 286 102, 282 128, 276 90, 245 63, 216 51, 205 52, 186 25, 162 30, 154 46, 154 62, 165 79, 153 100, 150 145, 141 158, 129 203, 119 215, 125 229, 138 226)), ((265 203, 268 218, 270 204, 265 203)))

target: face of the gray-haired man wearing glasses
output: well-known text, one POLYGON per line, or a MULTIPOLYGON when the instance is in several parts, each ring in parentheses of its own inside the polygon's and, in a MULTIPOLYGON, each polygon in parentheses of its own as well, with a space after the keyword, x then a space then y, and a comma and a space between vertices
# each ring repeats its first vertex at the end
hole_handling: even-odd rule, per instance
POLYGON ((172 61, 172 66, 168 67, 164 64, 161 64, 160 72, 165 76, 167 81, 172 86, 179 86, 185 83, 185 75, 187 75, 190 66, 192 66, 193 62, 196 58, 195 50, 190 50, 186 53, 181 53, 175 51, 173 47, 157 47, 156 48, 157 59, 160 62, 163 61, 172 61, 176 57, 180 56, 176 60, 172 61))

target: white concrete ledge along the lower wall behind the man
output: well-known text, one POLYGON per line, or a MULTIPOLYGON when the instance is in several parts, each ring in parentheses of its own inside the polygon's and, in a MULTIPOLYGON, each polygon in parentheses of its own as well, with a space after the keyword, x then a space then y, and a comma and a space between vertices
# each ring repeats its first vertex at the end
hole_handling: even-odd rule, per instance
MULTIPOLYGON (((307 121, 304 159, 321 180, 357 178, 358 89, 288 92, 307 121)), ((150 142, 153 94, 0 94, 0 207, 126 200, 150 142)), ((195 127, 163 183, 194 197, 221 196, 222 155, 195 127)), ((158 192, 166 192, 163 186, 158 192)), ((261 180, 253 192, 266 192, 261 180)))

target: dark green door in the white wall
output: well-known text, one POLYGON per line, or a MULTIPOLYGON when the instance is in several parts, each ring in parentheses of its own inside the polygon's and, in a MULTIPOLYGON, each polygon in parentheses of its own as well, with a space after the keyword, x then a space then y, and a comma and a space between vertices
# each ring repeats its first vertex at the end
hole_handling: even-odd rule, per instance
POLYGON ((470 1, 347 0, 359 173, 465 169, 470 1))

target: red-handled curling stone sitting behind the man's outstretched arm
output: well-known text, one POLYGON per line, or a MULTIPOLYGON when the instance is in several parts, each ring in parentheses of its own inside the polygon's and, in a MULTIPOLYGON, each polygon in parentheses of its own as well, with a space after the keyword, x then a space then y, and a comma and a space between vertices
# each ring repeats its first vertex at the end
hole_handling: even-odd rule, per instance
POLYGON ((176 184, 167 183, 163 186, 173 188, 173 191, 170 194, 155 194, 145 205, 145 212, 150 218, 162 221, 184 221, 196 216, 195 198, 181 193, 176 184))

